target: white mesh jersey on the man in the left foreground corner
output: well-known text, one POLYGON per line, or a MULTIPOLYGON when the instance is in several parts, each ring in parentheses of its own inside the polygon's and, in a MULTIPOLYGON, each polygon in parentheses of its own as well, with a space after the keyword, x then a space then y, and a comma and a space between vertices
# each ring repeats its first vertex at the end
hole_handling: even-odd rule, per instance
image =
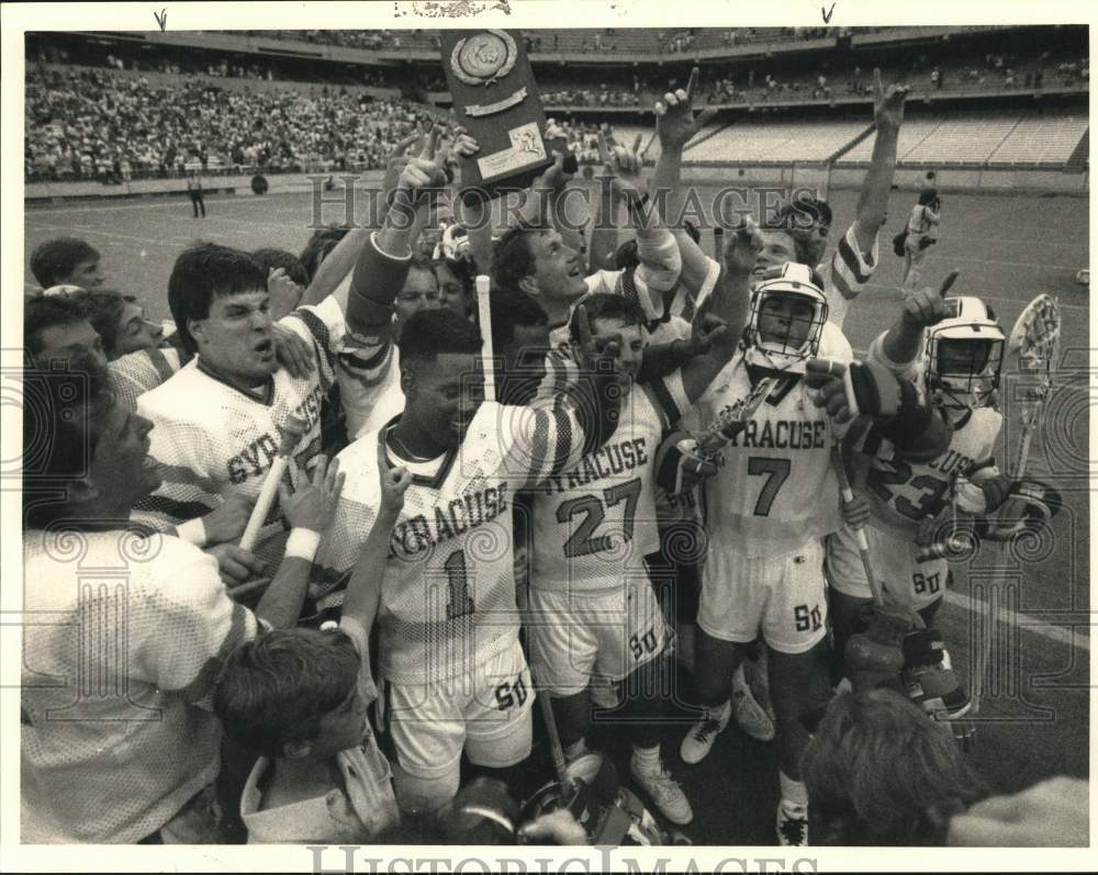
POLYGON ((27 531, 23 561, 22 841, 135 842, 216 776, 197 703, 255 616, 169 536, 27 531))

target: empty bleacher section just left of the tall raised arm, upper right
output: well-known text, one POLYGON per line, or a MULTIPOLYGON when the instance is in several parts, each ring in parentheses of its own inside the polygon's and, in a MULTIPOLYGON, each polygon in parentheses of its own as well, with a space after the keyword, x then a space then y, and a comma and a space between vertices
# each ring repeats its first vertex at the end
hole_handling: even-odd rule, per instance
MULTIPOLYGON (((743 122, 731 124, 683 155, 686 164, 826 161, 865 133, 865 122, 743 122)), ((903 128, 901 128, 903 130, 903 128)))

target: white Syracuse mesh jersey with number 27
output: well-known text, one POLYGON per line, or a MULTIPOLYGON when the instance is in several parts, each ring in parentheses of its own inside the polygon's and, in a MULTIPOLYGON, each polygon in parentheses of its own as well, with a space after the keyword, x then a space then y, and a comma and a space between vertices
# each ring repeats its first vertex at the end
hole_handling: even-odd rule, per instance
POLYGON ((624 400, 609 441, 534 492, 531 586, 613 590, 624 569, 643 570, 643 558, 660 546, 656 450, 687 405, 677 373, 651 388, 637 386, 624 400))

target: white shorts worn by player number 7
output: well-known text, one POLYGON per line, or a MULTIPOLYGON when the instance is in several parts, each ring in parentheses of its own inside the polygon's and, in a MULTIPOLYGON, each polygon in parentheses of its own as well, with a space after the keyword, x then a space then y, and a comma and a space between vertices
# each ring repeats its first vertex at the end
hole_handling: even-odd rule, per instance
POLYGON ((782 653, 805 653, 827 635, 824 546, 754 559, 710 550, 697 625, 721 641, 763 640, 782 653))

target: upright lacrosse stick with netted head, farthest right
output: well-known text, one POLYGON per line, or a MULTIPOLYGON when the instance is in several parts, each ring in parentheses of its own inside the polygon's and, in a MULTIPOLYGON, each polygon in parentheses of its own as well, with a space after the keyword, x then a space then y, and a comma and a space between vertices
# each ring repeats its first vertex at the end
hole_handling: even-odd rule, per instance
MULTIPOLYGON (((1060 354, 1060 306, 1056 299, 1047 294, 1034 298, 1010 329, 1007 339, 1006 355, 1018 356, 1019 371, 1035 379, 1035 385, 1027 391, 1021 405, 1022 437, 1015 463, 1013 479, 1018 480, 1026 473, 1029 462, 1033 433, 1041 420, 1041 412, 1052 392, 1052 381, 1056 370, 1056 359, 1060 354)), ((999 541, 999 561, 1002 565, 1004 541, 999 541)), ((996 574, 989 592, 998 590, 1002 583, 1002 573, 996 574)), ((979 642, 979 661, 973 666, 973 713, 979 710, 979 697, 984 686, 984 674, 990 660, 991 651, 991 606, 987 605, 987 636, 979 642)))

